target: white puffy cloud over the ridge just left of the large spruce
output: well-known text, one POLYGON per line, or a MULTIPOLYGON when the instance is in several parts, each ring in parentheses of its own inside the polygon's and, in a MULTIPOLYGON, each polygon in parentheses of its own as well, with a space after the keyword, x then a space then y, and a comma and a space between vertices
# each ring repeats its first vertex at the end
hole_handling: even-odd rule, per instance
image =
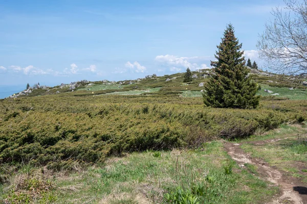
POLYGON ((209 68, 206 64, 199 65, 196 62, 209 60, 211 57, 178 57, 174 55, 159 55, 156 61, 170 66, 170 71, 180 71, 181 68, 190 68, 191 70, 209 68))

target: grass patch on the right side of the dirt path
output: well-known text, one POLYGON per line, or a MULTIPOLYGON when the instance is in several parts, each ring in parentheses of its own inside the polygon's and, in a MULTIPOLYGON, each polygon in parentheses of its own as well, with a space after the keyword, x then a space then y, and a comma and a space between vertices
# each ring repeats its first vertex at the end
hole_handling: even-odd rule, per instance
POLYGON ((265 136, 243 140, 241 145, 252 157, 262 158, 272 166, 301 177, 307 182, 307 130, 305 127, 283 125, 265 136), (246 143, 247 142, 247 143, 246 143))

